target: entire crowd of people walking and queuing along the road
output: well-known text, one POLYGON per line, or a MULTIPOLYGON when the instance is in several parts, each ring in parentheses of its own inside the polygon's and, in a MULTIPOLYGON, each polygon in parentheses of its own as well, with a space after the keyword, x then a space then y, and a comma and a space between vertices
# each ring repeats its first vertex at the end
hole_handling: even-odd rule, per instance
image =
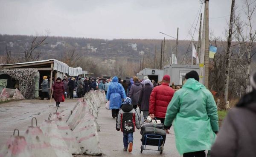
MULTIPOLYGON (((57 78, 51 89, 57 107, 64 101, 65 93, 69 98, 74 98, 75 91, 80 98, 90 90, 105 92, 112 118, 116 118, 116 130, 123 132, 124 151, 132 151, 133 132, 135 128, 140 129, 139 115, 143 112, 145 117, 160 120, 167 134, 174 124, 176 148, 183 157, 205 157, 205 151, 211 149, 208 153, 212 157, 256 156, 253 151, 256 146, 253 131, 256 129, 247 123, 256 117, 253 103, 256 73, 250 79, 252 91, 228 114, 220 133, 217 106, 212 93, 199 83, 196 71, 186 73, 185 78, 183 87, 177 91, 173 85, 170 86, 169 75, 163 76, 157 84, 147 76, 143 79, 136 76, 125 79, 117 76, 112 79, 64 77, 62 80, 57 78)), ((49 99, 47 76, 43 79, 42 98, 49 99)))

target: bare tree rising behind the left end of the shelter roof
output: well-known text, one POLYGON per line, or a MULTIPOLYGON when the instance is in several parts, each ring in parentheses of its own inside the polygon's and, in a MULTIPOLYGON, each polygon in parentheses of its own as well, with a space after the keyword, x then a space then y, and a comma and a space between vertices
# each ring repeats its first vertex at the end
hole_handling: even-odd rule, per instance
POLYGON ((45 40, 47 39, 47 37, 49 36, 49 33, 47 32, 47 35, 45 36, 33 36, 33 40, 31 42, 31 45, 29 48, 24 48, 24 56, 23 59, 25 62, 29 62, 29 61, 37 61, 40 57, 40 51, 35 52, 35 50, 39 47, 41 47, 42 45, 46 45, 47 43, 45 42, 45 40))

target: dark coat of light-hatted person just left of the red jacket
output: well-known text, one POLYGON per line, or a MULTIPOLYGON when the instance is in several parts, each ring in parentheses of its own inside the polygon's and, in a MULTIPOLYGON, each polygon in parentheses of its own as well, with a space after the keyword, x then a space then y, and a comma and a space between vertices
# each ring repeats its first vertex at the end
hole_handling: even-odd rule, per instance
POLYGON ((140 90, 140 97, 138 104, 140 106, 140 110, 148 110, 149 109, 149 98, 153 88, 150 84, 145 84, 140 90))

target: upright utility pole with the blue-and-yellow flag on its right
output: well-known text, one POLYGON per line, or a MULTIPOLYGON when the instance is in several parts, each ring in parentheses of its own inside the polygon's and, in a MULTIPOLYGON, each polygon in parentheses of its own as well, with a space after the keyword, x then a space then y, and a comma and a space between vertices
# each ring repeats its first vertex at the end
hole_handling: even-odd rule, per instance
POLYGON ((204 54, 204 86, 209 86, 209 0, 205 0, 205 54, 204 54))

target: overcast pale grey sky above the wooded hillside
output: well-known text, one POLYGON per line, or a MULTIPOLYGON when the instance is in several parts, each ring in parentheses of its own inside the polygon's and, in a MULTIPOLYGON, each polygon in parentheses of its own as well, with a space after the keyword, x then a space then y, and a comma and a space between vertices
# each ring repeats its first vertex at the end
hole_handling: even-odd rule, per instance
MULTIPOLYGON (((236 0, 238 9, 242 1, 236 0)), ((199 0, 0 0, 0 34, 48 30, 51 36, 162 39, 159 31, 176 36, 179 27, 179 39, 190 40, 200 6, 199 0)), ((230 7, 231 0, 209 1, 209 30, 215 36, 224 38, 230 7)), ((253 18, 256 25, 256 14, 253 18)))

